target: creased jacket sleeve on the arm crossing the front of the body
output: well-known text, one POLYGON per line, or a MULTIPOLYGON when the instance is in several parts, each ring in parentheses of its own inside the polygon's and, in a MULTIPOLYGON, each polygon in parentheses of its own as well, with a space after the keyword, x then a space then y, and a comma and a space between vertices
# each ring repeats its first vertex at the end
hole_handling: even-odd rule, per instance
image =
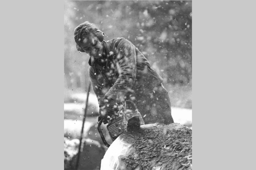
POLYGON ((136 48, 131 41, 122 38, 114 44, 114 49, 117 54, 115 67, 119 76, 105 96, 121 101, 126 99, 127 92, 132 92, 131 88, 136 79, 136 48))

